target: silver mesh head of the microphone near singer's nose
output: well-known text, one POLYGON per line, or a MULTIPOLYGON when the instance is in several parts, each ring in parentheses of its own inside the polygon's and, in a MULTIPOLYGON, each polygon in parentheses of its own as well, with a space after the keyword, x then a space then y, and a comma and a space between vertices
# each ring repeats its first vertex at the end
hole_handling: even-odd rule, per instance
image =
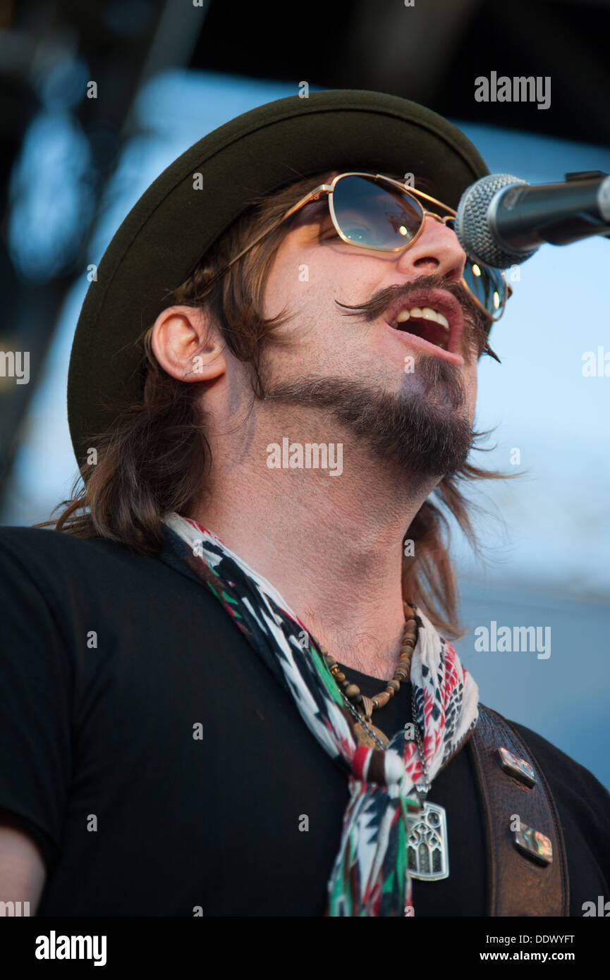
POLYGON ((487 222, 489 202, 497 191, 515 184, 528 184, 527 180, 514 177, 510 173, 490 173, 467 187, 457 209, 455 233, 469 259, 491 266, 493 269, 508 269, 519 265, 534 255, 531 252, 510 252, 499 245, 491 235, 487 222))

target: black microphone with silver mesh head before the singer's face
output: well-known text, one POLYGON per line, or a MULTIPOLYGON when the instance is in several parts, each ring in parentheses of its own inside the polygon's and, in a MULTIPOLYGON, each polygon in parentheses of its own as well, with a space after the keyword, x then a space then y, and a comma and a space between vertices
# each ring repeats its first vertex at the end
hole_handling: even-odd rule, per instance
POLYGON ((544 242, 610 235, 610 175, 578 171, 566 173, 565 183, 533 187, 490 173, 462 194, 455 232, 470 259, 493 269, 525 262, 544 242))

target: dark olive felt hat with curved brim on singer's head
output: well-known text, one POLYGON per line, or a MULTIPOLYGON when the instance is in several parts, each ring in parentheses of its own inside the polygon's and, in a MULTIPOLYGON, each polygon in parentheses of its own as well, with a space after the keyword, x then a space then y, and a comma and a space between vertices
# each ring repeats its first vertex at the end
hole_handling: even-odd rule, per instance
POLYGON ((161 173, 106 249, 76 324, 68 418, 81 465, 95 435, 143 399, 137 342, 203 253, 250 204, 301 176, 331 170, 425 177, 457 208, 488 173, 460 129, 382 92, 334 89, 259 106, 208 133, 161 173), (193 174, 202 174, 195 189, 193 174))

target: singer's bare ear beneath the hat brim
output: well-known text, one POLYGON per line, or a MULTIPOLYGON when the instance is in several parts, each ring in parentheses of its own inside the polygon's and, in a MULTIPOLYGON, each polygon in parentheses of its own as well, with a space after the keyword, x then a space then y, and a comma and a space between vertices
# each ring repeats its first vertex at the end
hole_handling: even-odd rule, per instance
POLYGON ((194 307, 168 307, 160 313, 151 347, 161 367, 178 381, 211 381, 227 370, 217 329, 194 307))

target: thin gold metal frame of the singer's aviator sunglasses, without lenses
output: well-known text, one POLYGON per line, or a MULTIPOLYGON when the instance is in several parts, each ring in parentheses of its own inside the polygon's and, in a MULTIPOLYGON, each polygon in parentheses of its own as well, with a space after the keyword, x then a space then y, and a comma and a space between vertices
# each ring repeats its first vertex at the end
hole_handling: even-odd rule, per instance
MULTIPOLYGON (((287 221, 288 218, 291 218, 292 215, 294 215, 301 208, 304 208, 305 205, 310 204, 310 203, 312 203, 314 201, 319 201, 322 198, 323 194, 328 194, 328 196, 329 196, 330 219, 332 221, 332 224, 334 225, 334 229, 335 229, 336 233, 338 234, 339 238, 341 238, 341 240, 344 241, 346 245, 353 245, 355 248, 365 248, 365 249, 368 249, 370 252, 371 251, 372 252, 385 252, 386 254, 393 253, 393 252, 404 252, 406 249, 410 248, 410 246, 413 245, 417 241, 417 239, 420 237, 420 235, 424 231, 424 225, 426 223, 426 219, 427 218, 433 218, 434 221, 440 221, 442 224, 445 224, 446 225, 448 221, 454 221, 454 219, 457 216, 457 212, 454 211, 453 208, 450 208, 447 204, 443 204, 442 201, 437 201, 436 198, 435 197, 431 197, 430 194, 426 194, 422 190, 417 190, 415 187, 407 187, 405 184, 401 183, 399 180, 394 180, 393 177, 387 177, 383 173, 368 173, 368 172, 362 172, 362 171, 345 171, 345 172, 342 172, 342 173, 337 173, 336 176, 332 178, 332 181, 330 182, 330 184, 319 184, 318 187, 314 187, 314 189, 311 190, 304 197, 302 197, 300 201, 297 201, 296 204, 292 205, 292 207, 289 208, 288 211, 286 211, 286 213, 284 215, 282 215, 280 219, 278 219, 277 221, 274 221, 274 223, 271 224, 268 228, 265 228, 265 230, 262 231, 260 233, 260 235, 257 235, 257 237, 254 239, 254 241, 251 241, 249 245, 246 245, 246 247, 244 249, 242 249, 241 252, 238 253, 238 255, 234 256, 234 258, 230 260, 230 262, 228 263, 228 265, 225 266, 225 268, 223 270, 221 270, 220 272, 217 272, 216 275, 214 275, 213 278, 210 279, 210 281, 206 284, 206 287, 204 289, 204 293, 202 295, 205 295, 205 293, 208 291, 208 289, 210 289, 214 285, 214 283, 218 281, 218 279, 222 278, 222 276, 225 275, 225 273, 229 271, 230 267, 235 262, 237 262, 239 259, 241 259, 242 256, 244 256, 247 252, 250 251, 250 249, 254 248, 255 245, 258 245, 258 243, 260 241, 262 241, 263 238, 265 238, 266 235, 270 234, 276 228, 280 227, 280 224, 282 224, 283 221, 287 221), (340 227, 339 227, 339 223, 338 223, 337 218, 336 218, 336 215, 334 213, 334 204, 333 204, 333 200, 332 200, 332 193, 334 191, 334 188, 335 188, 336 184, 338 183, 338 181, 342 177, 369 177, 370 179, 372 178, 372 179, 374 179, 376 181, 381 180, 381 181, 384 181, 385 183, 390 184, 392 187, 396 187, 400 191, 400 193, 402 195, 404 195, 405 197, 410 197, 415 202, 415 204, 417 204, 418 207, 420 207, 421 210, 422 210, 422 223, 421 223, 420 227, 418 228, 418 230, 416 231, 416 233, 413 236, 413 238, 411 239, 411 241, 406 242, 404 245, 398 245, 396 248, 389 249, 389 248, 381 248, 380 246, 375 246, 375 245, 362 245, 359 242, 353 242, 353 241, 350 241, 349 238, 346 238, 345 235, 343 234, 343 232, 341 231, 340 227), (437 205, 439 208, 443 208, 445 211, 449 212, 449 214, 446 215, 444 218, 442 218, 440 215, 434 214, 433 211, 426 211, 424 208, 422 208, 422 205, 421 205, 421 202, 420 202, 420 198, 422 200, 424 200, 424 201, 427 201, 427 202, 431 203, 431 204, 437 205)), ((471 260, 468 259, 468 256, 467 256, 467 261, 468 262, 471 262, 471 260)), ((471 263, 471 265, 478 265, 478 264, 477 263, 471 263)), ((472 297, 472 299, 474 300, 474 302, 477 304, 477 306, 479 307, 479 309, 482 311, 484 317, 486 319, 490 320, 493 323, 497 322, 497 320, 498 319, 501 319, 501 317, 503 316, 504 311, 506 309, 506 303, 510 299, 510 297, 512 295, 512 292, 513 292, 513 290, 511 289, 511 287, 506 282, 506 276, 504 275, 504 272, 503 271, 500 271, 500 276, 501 276, 502 282, 504 283, 504 300, 503 300, 503 302, 502 302, 502 304, 501 304, 501 306, 499 308, 500 309, 500 312, 499 312, 499 314, 498 314, 497 317, 492 317, 491 314, 489 313, 489 311, 488 310, 485 310, 485 308, 483 307, 483 303, 481 302, 481 300, 477 296, 475 296, 474 292, 472 291, 472 289, 468 285, 466 279, 463 276, 460 279, 460 285, 466 290, 466 292, 469 294, 469 296, 472 297)))

